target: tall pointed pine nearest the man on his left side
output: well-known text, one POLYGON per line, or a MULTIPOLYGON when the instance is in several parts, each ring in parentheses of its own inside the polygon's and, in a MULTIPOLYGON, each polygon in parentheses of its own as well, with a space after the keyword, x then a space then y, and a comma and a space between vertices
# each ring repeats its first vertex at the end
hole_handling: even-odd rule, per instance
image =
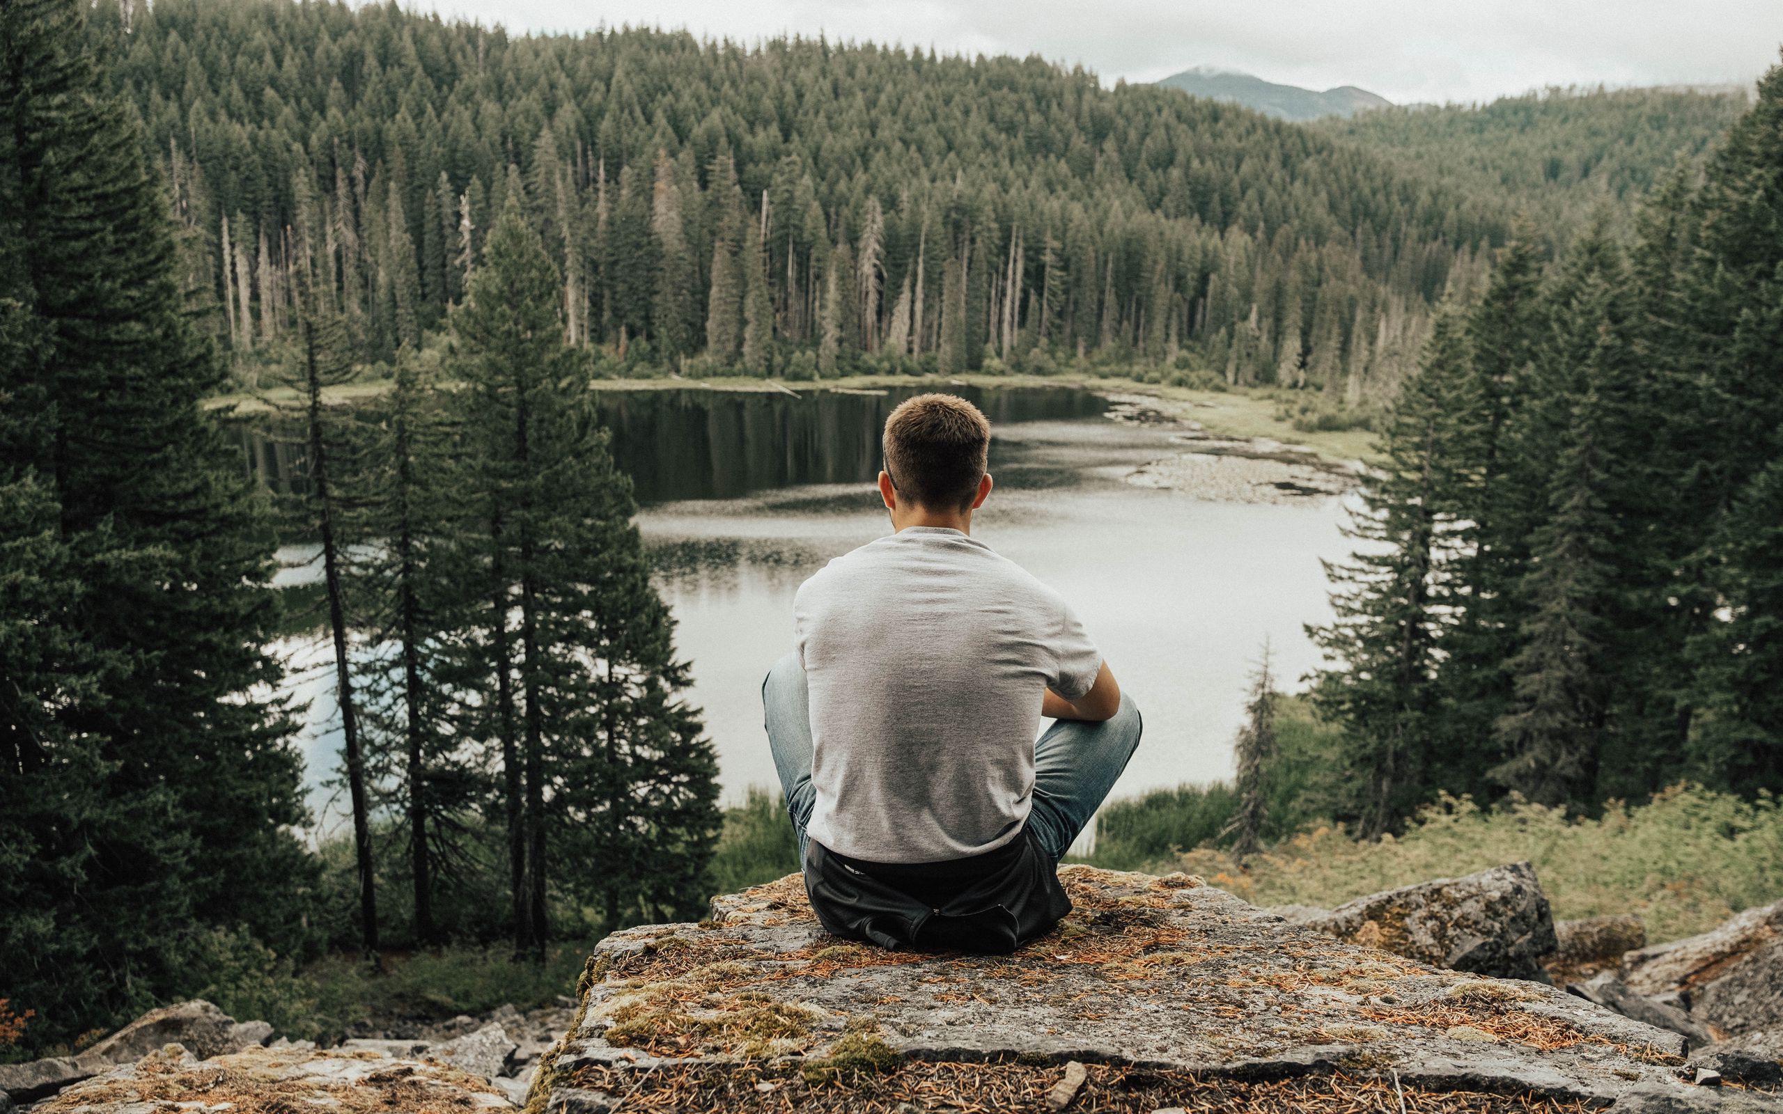
POLYGON ((672 658, 672 620, 649 585, 629 483, 588 396, 563 374, 555 269, 514 203, 455 332, 480 501, 505 508, 487 544, 501 610, 519 626, 524 946, 542 957, 553 877, 599 895, 610 923, 699 900, 717 768, 678 699, 686 667, 672 658), (553 847, 587 852, 553 859, 553 847))

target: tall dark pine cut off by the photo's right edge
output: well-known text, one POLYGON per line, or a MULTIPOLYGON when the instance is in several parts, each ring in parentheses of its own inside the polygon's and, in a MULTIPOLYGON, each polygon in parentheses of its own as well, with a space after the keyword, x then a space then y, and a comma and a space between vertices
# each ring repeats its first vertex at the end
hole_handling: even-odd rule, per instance
MULTIPOLYGON (((1678 387, 1660 422, 1667 456, 1689 462, 1665 519, 1676 563, 1669 595, 1689 608, 1696 667, 1689 772, 1715 784, 1778 790, 1774 617, 1776 431, 1783 428, 1783 66, 1719 144, 1703 184, 1660 233, 1676 271, 1647 289, 1664 301, 1646 358, 1678 387), (1665 283, 1660 287, 1660 283, 1665 283), (1662 315, 1660 315, 1662 314, 1662 315), (1687 403, 1687 405, 1680 405, 1687 403), (1769 549, 1767 549, 1769 547, 1769 549)), ((1676 200, 1674 200, 1676 203, 1676 200)), ((1649 232, 1649 242, 1653 237, 1649 232)))

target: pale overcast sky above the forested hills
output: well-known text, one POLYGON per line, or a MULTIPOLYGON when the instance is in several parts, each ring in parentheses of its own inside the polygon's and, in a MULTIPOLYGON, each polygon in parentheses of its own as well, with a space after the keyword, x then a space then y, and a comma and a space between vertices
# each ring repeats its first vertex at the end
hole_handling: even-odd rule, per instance
POLYGON ((408 0, 510 30, 654 25, 752 43, 824 32, 966 53, 1039 53, 1113 82, 1189 66, 1407 102, 1541 86, 1751 82, 1783 0, 408 0))

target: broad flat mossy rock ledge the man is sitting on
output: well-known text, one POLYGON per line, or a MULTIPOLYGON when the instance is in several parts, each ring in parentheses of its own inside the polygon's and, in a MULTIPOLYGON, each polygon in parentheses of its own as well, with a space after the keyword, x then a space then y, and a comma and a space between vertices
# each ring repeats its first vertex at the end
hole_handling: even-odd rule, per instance
POLYGON ((1541 982, 1337 939, 1180 873, 1061 879, 1072 916, 1006 957, 840 941, 797 875, 697 925, 615 932, 528 1107, 1783 1109, 1687 1084, 1685 1036, 1541 982))

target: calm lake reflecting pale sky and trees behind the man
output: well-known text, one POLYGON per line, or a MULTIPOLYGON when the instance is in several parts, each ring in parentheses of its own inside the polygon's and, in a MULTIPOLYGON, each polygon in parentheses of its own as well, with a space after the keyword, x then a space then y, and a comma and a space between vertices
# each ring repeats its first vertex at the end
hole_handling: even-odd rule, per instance
MULTIPOLYGON (((1303 483, 1268 471, 1286 465, 1207 442, 1189 417, 1070 387, 954 390, 995 430, 997 487, 974 535, 1072 601, 1145 715, 1145 741, 1114 793, 1230 777, 1264 642, 1286 688, 1318 663, 1303 626, 1330 618, 1319 561, 1350 549, 1343 499, 1302 494, 1303 483), (1146 467, 1155 462, 1170 467, 1146 467)), ((644 504, 638 529, 694 667, 690 700, 704 709, 726 802, 776 784, 761 676, 792 649, 804 577, 890 531, 872 488, 879 428, 915 392, 599 397, 644 504)), ((316 804, 339 815, 321 790, 339 761, 326 647, 292 651, 321 667, 298 684, 314 699, 305 750, 316 804)))

